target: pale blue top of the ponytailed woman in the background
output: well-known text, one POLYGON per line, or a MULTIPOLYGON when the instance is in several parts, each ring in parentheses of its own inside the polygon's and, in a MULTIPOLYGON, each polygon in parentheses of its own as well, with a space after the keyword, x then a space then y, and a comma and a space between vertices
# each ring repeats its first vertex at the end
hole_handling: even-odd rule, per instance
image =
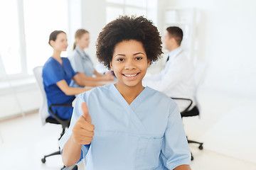
MULTIPOLYGON (((75 72, 83 72, 88 77, 92 77, 94 74, 95 68, 93 67, 92 60, 89 55, 80 49, 80 47, 76 46, 68 59, 75 72)), ((70 86, 79 87, 73 80, 71 81, 70 86)))

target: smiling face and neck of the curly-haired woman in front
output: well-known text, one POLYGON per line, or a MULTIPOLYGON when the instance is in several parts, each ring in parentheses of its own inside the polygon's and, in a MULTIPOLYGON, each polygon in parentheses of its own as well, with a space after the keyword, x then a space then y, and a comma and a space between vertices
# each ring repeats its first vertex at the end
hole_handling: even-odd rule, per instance
POLYGON ((142 86, 142 79, 149 67, 142 42, 125 40, 114 46, 110 67, 121 86, 142 86))

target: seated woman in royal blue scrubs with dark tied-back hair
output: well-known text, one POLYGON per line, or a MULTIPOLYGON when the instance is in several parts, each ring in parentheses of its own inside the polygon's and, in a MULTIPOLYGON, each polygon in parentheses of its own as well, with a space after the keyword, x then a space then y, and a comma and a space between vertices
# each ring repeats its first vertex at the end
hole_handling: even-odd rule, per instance
MULTIPOLYGON (((67 35, 65 32, 62 30, 55 30, 53 33, 50 33, 49 44, 53 47, 53 56, 44 64, 42 75, 48 106, 58 103, 70 104, 75 99, 75 95, 89 90, 68 86, 71 79, 81 86, 92 86, 92 84, 78 77, 71 67, 68 58, 60 57, 60 53, 65 51, 68 47, 67 35)), ((59 118, 67 120, 71 118, 73 108, 55 106, 53 107, 53 112, 58 115, 59 118)), ((53 115, 51 115, 51 117, 53 117, 53 115)))

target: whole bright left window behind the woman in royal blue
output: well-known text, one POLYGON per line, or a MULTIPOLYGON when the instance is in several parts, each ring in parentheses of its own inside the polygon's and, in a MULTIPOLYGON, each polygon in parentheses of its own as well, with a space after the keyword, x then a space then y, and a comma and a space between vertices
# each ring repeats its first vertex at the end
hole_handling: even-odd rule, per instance
MULTIPOLYGON (((70 0, 0 1, 0 80, 24 77, 52 55, 48 38, 53 30, 68 32, 70 0)), ((67 52, 63 52, 65 57, 67 52)))

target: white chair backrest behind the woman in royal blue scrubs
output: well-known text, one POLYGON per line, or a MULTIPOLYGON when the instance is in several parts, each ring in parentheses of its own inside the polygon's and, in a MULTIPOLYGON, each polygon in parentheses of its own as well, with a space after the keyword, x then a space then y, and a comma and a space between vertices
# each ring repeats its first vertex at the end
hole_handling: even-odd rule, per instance
POLYGON ((41 117, 42 124, 45 125, 46 118, 48 118, 50 114, 48 113, 48 103, 47 103, 47 98, 46 98, 46 91, 43 87, 42 72, 43 72, 43 66, 38 66, 33 69, 33 74, 36 77, 36 81, 38 83, 39 89, 40 89, 42 97, 43 97, 43 103, 42 103, 41 107, 39 108, 39 115, 41 117))

